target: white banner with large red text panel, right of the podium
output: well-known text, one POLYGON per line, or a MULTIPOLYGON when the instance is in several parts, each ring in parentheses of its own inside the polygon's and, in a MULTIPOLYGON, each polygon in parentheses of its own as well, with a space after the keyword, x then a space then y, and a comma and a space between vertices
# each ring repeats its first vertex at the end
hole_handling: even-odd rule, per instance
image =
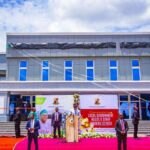
POLYGON ((117 95, 80 95, 81 130, 115 132, 118 119, 117 95))

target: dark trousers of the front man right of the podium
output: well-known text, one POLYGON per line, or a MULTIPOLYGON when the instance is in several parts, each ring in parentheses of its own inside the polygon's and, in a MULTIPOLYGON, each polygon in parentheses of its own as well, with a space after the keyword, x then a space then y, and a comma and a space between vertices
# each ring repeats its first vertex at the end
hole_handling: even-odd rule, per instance
POLYGON ((118 150, 121 150, 121 146, 123 143, 123 150, 127 149, 127 136, 126 135, 120 135, 117 137, 118 139, 118 150))

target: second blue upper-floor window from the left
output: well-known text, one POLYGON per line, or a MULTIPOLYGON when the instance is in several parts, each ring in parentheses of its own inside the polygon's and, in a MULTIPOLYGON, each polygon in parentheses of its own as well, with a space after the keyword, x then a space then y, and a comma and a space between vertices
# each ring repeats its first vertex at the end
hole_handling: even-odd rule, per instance
POLYGON ((47 60, 44 60, 42 62, 42 80, 48 81, 48 75, 49 75, 49 62, 47 60))

